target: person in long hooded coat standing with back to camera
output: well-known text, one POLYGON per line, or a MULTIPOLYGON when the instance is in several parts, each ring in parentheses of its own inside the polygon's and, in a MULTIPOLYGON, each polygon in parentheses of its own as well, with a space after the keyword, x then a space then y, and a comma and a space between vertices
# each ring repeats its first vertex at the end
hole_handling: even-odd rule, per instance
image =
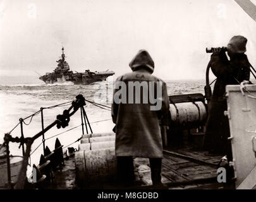
MULTIPOLYGON (((146 50, 140 50, 138 52, 130 62, 130 68, 133 72, 119 76, 114 86, 112 117, 113 122, 116 124, 118 170, 119 173, 122 172, 122 169, 130 170, 123 170, 123 172, 126 172, 126 176, 123 176, 126 179, 122 179, 122 181, 129 181, 130 179, 131 185, 131 179, 133 178, 133 174, 131 173, 133 172, 132 157, 150 158, 153 184, 159 184, 161 183, 162 158, 160 125, 168 125, 167 117, 169 112, 166 83, 152 75, 154 61, 146 50), (130 88, 131 83, 135 85, 133 92, 131 92, 130 88), (142 84, 143 87, 139 87, 140 95, 138 95, 136 94, 138 93, 136 86, 142 84), (150 85, 153 85, 154 88, 150 88, 150 85), (157 88, 157 85, 160 88, 157 88), (122 92, 121 103, 117 103, 115 99, 118 97, 117 95, 119 95, 118 92, 120 92, 120 89, 122 92), (154 93, 153 97, 157 97, 156 102, 160 103, 159 109, 150 109, 150 107, 157 105, 157 103, 152 104, 150 100, 147 103, 144 102, 145 97, 142 96, 144 95, 142 89, 148 92, 147 95, 149 96, 146 96, 146 98, 149 98, 154 93), (157 90, 160 91, 160 96, 157 96, 157 90), (123 97, 123 93, 126 93, 126 98, 123 97), (137 98, 140 102, 136 102, 137 98), (133 102, 129 102, 129 100, 133 102)), ((120 175, 119 177, 122 178, 120 175)))

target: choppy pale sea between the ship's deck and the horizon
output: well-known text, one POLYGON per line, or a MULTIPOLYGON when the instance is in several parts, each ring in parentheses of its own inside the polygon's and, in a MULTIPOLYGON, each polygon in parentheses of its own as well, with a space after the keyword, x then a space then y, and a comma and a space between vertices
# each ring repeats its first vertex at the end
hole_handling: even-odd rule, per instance
MULTIPOLYGON (((204 93, 204 80, 173 80, 166 81, 168 86, 168 95, 181 95, 186 93, 204 93)), ((10 82, 9 80, 0 81, 0 144, 3 143, 4 133, 8 133, 18 124, 20 118, 25 118, 37 112, 40 107, 49 107, 64 102, 74 100, 76 95, 82 94, 87 100, 108 105, 111 107, 111 97, 113 93, 113 78, 108 78, 107 81, 94 83, 92 85, 73 85, 72 83, 63 83, 61 85, 45 85, 40 81, 31 82, 10 82)), ((56 119, 58 114, 62 114, 63 107, 55 107, 54 109, 44 109, 44 126, 51 124, 56 119)), ((85 111, 88 120, 91 123, 94 133, 110 132, 114 124, 111 120, 111 112, 104 110, 87 102, 85 111)), ((26 124, 23 124, 23 133, 25 137, 34 136, 42 129, 40 114, 32 119, 26 119, 26 124)), ((50 138, 56 134, 67 131, 81 125, 80 112, 77 112, 71 117, 69 126, 66 128, 57 129, 56 126, 50 129, 45 138, 50 138)), ((12 132, 13 137, 20 136, 21 129, 17 126, 12 132)), ((66 146, 73 143, 82 135, 82 127, 75 128, 66 133, 58 135, 62 145, 66 146)), ((54 149, 56 138, 46 141, 46 145, 50 150, 54 149)), ((42 142, 42 138, 37 139, 32 145, 32 151, 42 142)), ((18 148, 18 143, 10 143, 12 155, 21 155, 21 149, 18 148)), ((74 143, 74 148, 77 148, 78 143, 74 143)), ((31 155, 32 164, 39 163, 39 158, 42 153, 42 145, 31 155)), ((30 170, 30 168, 28 168, 30 170)))

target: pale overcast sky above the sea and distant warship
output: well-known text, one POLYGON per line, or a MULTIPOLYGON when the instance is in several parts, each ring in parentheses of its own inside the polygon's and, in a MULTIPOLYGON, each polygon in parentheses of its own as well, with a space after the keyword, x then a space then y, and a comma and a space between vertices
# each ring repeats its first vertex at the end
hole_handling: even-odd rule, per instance
POLYGON ((52 71, 63 45, 73 71, 119 76, 146 49, 156 76, 204 78, 205 47, 227 45, 233 35, 247 37, 256 66, 255 33, 256 22, 233 0, 0 1, 0 75, 52 71))

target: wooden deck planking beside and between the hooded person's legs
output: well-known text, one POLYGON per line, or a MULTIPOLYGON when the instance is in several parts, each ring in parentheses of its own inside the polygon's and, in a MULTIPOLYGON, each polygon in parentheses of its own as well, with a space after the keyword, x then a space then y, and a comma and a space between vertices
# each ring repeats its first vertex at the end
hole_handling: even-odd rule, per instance
MULTIPOLYGON (((210 163, 219 162, 220 157, 207 157, 204 152, 192 150, 175 150, 176 153, 182 153, 189 157, 204 160, 210 163)), ((135 166, 135 185, 152 185, 149 158, 134 158, 135 166)), ((79 189, 75 183, 75 158, 70 157, 65 160, 63 170, 54 172, 55 179, 51 189, 79 189)), ((162 182, 188 182, 195 179, 207 179, 217 177, 216 168, 210 165, 202 165, 180 157, 173 157, 164 153, 162 158, 162 182)), ((219 188, 219 184, 190 184, 170 187, 170 189, 211 189, 219 188)))

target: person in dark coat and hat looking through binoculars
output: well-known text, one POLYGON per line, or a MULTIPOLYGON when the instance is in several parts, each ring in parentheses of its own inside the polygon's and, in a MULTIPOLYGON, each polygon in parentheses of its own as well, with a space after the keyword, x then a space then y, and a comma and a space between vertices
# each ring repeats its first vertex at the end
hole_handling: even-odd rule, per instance
POLYGON ((205 149, 210 153, 227 155, 231 160, 231 143, 229 137, 228 117, 224 116, 227 110, 225 100, 226 85, 238 85, 242 81, 250 81, 250 62, 246 52, 247 39, 243 36, 234 36, 229 40, 226 48, 212 48, 210 68, 217 77, 214 91, 209 105, 209 117, 206 124, 205 149), (228 52, 228 57, 226 56, 228 52))

